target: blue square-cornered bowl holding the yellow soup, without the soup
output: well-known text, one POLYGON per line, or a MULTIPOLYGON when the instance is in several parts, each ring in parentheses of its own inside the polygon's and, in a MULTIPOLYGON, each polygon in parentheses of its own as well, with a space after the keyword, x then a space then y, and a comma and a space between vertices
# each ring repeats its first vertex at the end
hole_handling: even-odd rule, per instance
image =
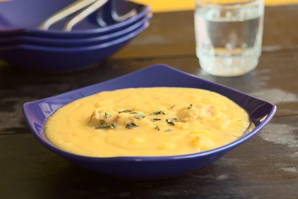
POLYGON ((169 66, 158 64, 131 74, 23 105, 26 122, 34 136, 49 150, 86 169, 129 178, 161 178, 200 169, 236 148, 258 133, 273 117, 276 106, 234 89, 200 79, 169 66), (102 91, 139 87, 187 87, 217 92, 241 105, 250 114, 256 128, 238 140, 210 151, 165 157, 92 158, 57 148, 44 134, 44 123, 55 110, 74 100, 102 91))

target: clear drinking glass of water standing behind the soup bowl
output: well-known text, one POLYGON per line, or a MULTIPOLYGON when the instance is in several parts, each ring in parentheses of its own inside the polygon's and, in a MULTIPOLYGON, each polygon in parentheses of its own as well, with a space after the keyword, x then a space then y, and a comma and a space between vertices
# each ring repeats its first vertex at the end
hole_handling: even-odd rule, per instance
POLYGON ((196 54, 211 75, 241 76, 262 51, 264 0, 196 0, 196 54))

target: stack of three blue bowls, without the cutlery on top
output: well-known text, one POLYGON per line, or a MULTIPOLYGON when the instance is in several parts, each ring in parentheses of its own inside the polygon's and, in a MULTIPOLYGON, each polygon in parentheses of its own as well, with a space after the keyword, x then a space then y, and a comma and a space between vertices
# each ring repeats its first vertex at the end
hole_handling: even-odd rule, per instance
POLYGON ((126 0, 109 0, 71 31, 62 30, 70 19, 68 17, 48 30, 38 28, 48 17, 74 1, 0 2, 0 60, 11 66, 38 70, 80 69, 113 55, 144 31, 152 17, 148 6, 126 0), (119 15, 132 7, 136 14, 117 22, 112 15, 116 2, 119 3, 116 10, 119 15))

